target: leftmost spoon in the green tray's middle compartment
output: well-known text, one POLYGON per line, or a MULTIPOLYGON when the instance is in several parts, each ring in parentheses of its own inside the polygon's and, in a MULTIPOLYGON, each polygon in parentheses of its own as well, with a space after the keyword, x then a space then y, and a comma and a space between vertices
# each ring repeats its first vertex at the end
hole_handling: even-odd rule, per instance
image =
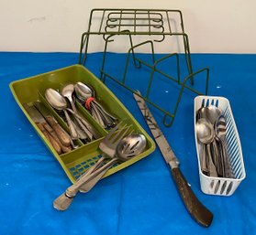
POLYGON ((69 116, 69 113, 67 112, 68 104, 65 98, 61 96, 61 94, 58 91, 55 91, 51 88, 45 91, 45 98, 54 109, 64 112, 71 132, 71 137, 73 140, 77 140, 79 138, 79 135, 72 124, 72 120, 69 116))

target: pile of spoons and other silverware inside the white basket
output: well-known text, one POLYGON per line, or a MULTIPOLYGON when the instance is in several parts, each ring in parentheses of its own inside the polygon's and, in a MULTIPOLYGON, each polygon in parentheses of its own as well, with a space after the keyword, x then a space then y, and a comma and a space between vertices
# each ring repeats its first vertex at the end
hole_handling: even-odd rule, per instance
POLYGON ((205 101, 196 112, 195 132, 201 146, 201 170, 206 176, 234 178, 226 144, 226 112, 205 101))

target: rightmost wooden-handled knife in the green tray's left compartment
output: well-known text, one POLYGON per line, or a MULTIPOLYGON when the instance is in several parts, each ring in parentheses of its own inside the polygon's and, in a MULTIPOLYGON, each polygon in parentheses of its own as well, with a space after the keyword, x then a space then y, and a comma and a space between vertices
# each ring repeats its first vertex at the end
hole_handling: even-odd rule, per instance
POLYGON ((52 116, 50 111, 40 101, 35 101, 34 105, 39 110, 39 112, 44 116, 45 120, 50 124, 50 127, 55 131, 61 144, 63 144, 66 147, 69 147, 71 145, 70 136, 61 128, 60 124, 52 116))

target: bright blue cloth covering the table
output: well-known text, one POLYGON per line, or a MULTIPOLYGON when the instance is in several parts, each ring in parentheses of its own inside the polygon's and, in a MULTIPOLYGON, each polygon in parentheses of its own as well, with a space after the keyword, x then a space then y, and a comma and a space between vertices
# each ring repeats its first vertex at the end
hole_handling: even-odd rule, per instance
MULTIPOLYGON (((96 76, 101 56, 92 54, 86 63, 96 76)), ((121 63, 117 56, 110 55, 114 60, 108 69, 114 73, 121 63)), ((53 199, 70 186, 70 181, 17 106, 8 85, 77 61, 77 53, 0 53, 1 234, 256 234, 256 55, 192 55, 195 70, 210 68, 209 94, 228 98, 237 123, 247 177, 233 196, 209 196, 200 190, 193 119, 195 95, 184 94, 172 128, 165 128, 161 113, 152 109, 195 195, 214 213, 208 229, 196 224, 187 213, 158 148, 138 163, 101 180, 88 194, 78 195, 67 211, 52 208, 53 199)), ((164 66, 169 68, 168 64, 164 66)), ((147 72, 142 69, 138 75, 131 69, 128 77, 143 89, 142 77, 147 72)), ((109 80, 106 84, 150 133, 131 93, 109 80)), ((172 103, 167 98, 171 91, 167 87, 159 89, 152 93, 152 99, 172 103)))

